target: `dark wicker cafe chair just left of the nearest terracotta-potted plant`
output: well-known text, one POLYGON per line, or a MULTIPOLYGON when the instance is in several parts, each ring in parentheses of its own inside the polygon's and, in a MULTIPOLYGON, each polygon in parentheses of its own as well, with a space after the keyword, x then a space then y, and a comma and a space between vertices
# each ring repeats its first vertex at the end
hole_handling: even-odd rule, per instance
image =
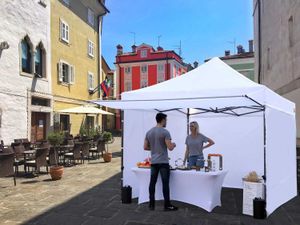
POLYGON ((47 155, 48 155, 48 148, 37 148, 35 152, 34 159, 26 160, 24 167, 25 167, 25 173, 27 172, 28 167, 34 167, 35 172, 40 172, 40 167, 45 166, 47 173, 48 173, 48 162, 47 162, 47 155))

